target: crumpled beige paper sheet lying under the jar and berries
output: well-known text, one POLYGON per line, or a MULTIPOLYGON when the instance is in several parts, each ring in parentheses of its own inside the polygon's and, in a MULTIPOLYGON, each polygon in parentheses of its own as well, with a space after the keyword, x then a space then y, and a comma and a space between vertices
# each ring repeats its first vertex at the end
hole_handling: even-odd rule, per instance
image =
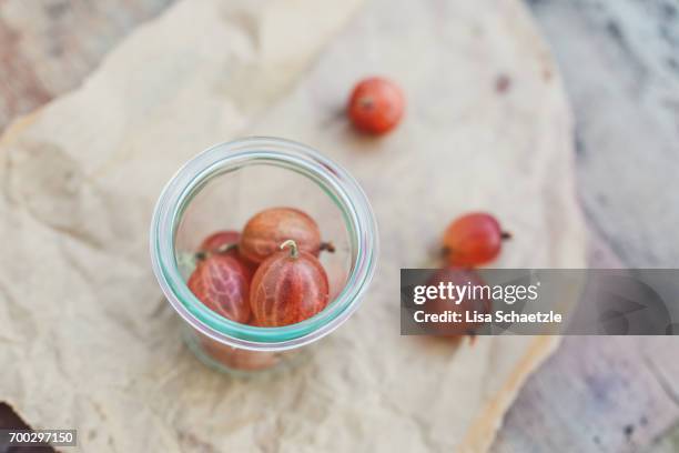
POLYGON ((402 338, 398 269, 475 209, 515 234, 498 266, 584 266, 571 151, 518 0, 184 0, 0 142, 0 400, 36 427, 78 429, 84 452, 484 451, 558 338, 402 338), (408 99, 376 140, 340 113, 369 73, 408 99), (184 161, 249 133, 346 165, 382 255, 362 309, 305 366, 242 380, 181 343, 146 232, 184 161))

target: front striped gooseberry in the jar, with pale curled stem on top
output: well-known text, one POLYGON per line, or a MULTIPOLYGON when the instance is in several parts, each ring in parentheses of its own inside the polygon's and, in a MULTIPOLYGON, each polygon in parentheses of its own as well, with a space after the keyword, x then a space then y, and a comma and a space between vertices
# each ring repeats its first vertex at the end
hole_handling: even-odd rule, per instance
POLYGON ((275 328, 304 321, 325 309, 328 292, 327 274, 316 256, 296 250, 276 252, 252 279, 254 323, 275 328))

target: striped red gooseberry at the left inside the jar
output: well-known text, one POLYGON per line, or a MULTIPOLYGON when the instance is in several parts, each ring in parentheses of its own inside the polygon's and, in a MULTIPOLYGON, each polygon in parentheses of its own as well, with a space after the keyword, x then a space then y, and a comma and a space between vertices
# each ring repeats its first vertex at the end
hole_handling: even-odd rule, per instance
POLYGON ((234 256, 210 254, 199 261, 186 284, 210 310, 244 324, 251 315, 249 273, 234 256))

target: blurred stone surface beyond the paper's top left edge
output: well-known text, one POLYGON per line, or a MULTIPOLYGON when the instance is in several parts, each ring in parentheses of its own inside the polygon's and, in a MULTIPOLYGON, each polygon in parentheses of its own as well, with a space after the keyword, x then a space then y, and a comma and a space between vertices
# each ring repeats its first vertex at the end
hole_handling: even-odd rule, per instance
POLYGON ((72 90, 134 26, 172 0, 0 2, 0 131, 72 90))

